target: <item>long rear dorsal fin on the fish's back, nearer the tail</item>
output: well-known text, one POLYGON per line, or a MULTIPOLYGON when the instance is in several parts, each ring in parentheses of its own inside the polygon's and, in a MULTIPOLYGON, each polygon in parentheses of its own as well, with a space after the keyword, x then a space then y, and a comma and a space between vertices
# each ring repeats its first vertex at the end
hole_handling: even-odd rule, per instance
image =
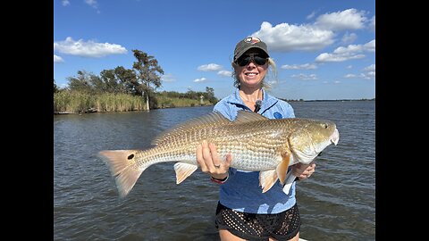
POLYGON ((183 133, 189 131, 189 129, 205 129, 206 127, 224 126, 231 123, 231 120, 225 118, 221 112, 209 112, 206 115, 190 119, 171 129, 164 130, 161 134, 156 136, 152 141, 152 145, 159 145, 172 137, 182 137, 183 133))

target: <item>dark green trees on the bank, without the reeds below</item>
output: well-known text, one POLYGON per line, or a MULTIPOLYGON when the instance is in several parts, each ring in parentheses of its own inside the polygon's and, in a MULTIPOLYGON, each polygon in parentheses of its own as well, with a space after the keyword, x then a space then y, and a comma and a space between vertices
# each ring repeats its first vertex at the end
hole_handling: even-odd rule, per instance
POLYGON ((55 84, 54 93, 60 91, 76 91, 88 95, 99 95, 105 93, 126 94, 130 96, 141 96, 145 98, 147 110, 157 108, 156 96, 172 98, 188 98, 199 100, 203 96, 205 101, 215 104, 218 100, 214 97, 214 89, 206 87, 206 92, 189 90, 187 93, 160 92, 156 93, 158 87, 162 87, 161 75, 164 70, 159 66, 156 58, 137 49, 132 50, 136 62, 132 69, 118 66, 112 70, 104 70, 95 75, 87 71, 78 71, 76 76, 68 77, 68 87, 60 89, 55 84))

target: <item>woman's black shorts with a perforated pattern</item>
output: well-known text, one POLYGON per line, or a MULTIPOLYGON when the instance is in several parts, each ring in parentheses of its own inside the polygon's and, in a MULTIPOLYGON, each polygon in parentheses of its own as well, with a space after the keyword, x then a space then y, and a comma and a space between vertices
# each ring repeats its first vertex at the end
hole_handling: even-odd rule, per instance
POLYGON ((233 211, 218 203, 215 224, 217 229, 228 229, 247 240, 289 240, 298 234, 301 220, 297 204, 284 212, 257 214, 233 211))

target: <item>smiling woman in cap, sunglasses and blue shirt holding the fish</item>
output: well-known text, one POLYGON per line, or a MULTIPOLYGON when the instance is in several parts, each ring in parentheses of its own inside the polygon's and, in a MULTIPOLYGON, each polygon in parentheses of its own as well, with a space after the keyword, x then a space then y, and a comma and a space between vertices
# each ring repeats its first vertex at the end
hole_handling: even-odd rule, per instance
MULTIPOLYGON (((265 92, 265 74, 275 63, 267 47, 257 37, 246 37, 234 50, 231 63, 234 86, 231 96, 214 105, 214 111, 234 120, 239 110, 258 112, 270 119, 294 118, 290 104, 265 92)), ((220 184, 220 200, 216 208, 216 228, 221 240, 299 240, 299 210, 295 199, 295 182, 288 194, 276 184, 262 193, 258 171, 230 168, 233 156, 223 162, 214 144, 203 142, 197 148, 197 161, 210 179, 220 184)), ((315 171, 315 164, 301 163, 290 167, 299 179, 315 171)))

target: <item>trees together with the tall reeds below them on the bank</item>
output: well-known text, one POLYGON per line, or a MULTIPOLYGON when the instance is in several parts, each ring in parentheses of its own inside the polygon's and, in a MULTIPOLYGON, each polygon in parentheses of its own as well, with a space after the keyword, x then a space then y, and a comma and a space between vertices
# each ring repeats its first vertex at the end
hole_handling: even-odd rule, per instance
POLYGON ((78 71, 77 76, 67 78, 64 88, 56 86, 54 79, 54 112, 128 112, 218 102, 212 87, 206 87, 206 92, 156 92, 162 86, 163 69, 154 56, 132 51, 137 60, 132 69, 118 66, 99 76, 78 71))

